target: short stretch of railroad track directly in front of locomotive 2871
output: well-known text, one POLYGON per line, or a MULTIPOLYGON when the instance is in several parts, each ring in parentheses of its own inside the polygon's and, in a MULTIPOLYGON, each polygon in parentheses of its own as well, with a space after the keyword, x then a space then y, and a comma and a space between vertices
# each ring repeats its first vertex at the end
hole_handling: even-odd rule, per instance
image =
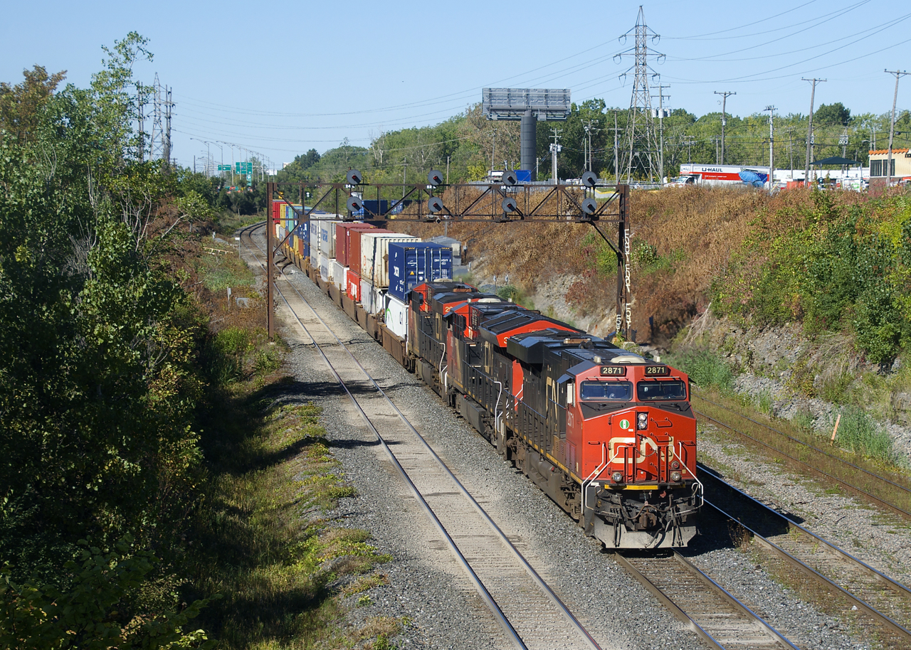
POLYGON ((745 604, 676 551, 658 557, 617 553, 618 564, 712 648, 798 650, 745 604))

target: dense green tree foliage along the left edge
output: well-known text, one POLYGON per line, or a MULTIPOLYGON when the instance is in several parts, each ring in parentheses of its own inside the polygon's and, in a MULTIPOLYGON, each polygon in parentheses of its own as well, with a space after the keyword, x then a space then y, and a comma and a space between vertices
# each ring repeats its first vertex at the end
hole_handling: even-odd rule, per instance
POLYGON ((203 603, 139 597, 198 481, 202 323, 167 256, 213 196, 135 156, 146 46, 106 48, 88 88, 36 66, 0 96, 0 645, 205 641, 180 632, 203 603))

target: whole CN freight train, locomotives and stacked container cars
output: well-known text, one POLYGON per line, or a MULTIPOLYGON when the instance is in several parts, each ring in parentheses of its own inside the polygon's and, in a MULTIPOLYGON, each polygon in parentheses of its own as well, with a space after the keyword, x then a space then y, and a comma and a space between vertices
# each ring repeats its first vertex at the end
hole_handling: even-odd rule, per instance
POLYGON ((273 227, 292 263, 586 533, 690 542, 702 486, 684 372, 455 281, 451 249, 335 215, 296 225, 284 208, 273 227))

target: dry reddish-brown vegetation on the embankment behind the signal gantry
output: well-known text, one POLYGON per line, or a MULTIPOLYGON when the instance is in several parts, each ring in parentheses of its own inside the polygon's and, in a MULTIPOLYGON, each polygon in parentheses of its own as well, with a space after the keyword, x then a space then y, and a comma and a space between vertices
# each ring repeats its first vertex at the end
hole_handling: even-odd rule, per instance
MULTIPOLYGON (((836 205, 865 200, 856 192, 833 192, 836 205)), ((711 282, 751 232, 774 228, 773 215, 812 207, 809 189, 775 197, 745 188, 667 188, 634 191, 632 235, 632 329, 670 340, 709 303, 711 282), (637 251, 638 249, 638 251, 637 251), (642 251, 646 255, 641 255, 642 251)), ((786 224, 781 224, 784 227, 786 224)), ((443 234, 442 224, 401 224, 394 229, 423 238, 443 234)), ((614 239, 612 224, 602 231, 614 239)), ((489 273, 506 274, 527 292, 556 275, 577 276, 567 301, 580 314, 612 305, 616 296, 612 251, 588 225, 562 223, 451 223, 449 235, 466 243, 469 259, 485 259, 489 273)))

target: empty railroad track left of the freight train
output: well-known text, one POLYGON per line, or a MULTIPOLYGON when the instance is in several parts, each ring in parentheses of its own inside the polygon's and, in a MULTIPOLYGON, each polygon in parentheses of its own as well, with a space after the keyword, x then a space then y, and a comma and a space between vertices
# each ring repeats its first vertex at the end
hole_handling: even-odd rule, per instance
MULTIPOLYGON (((263 224, 256 224, 241 230, 241 243, 261 266, 265 251, 253 239, 253 230, 262 228, 263 224)), ((279 298, 380 442, 510 645, 527 650, 599 648, 284 273, 278 275, 275 285, 279 298)))

